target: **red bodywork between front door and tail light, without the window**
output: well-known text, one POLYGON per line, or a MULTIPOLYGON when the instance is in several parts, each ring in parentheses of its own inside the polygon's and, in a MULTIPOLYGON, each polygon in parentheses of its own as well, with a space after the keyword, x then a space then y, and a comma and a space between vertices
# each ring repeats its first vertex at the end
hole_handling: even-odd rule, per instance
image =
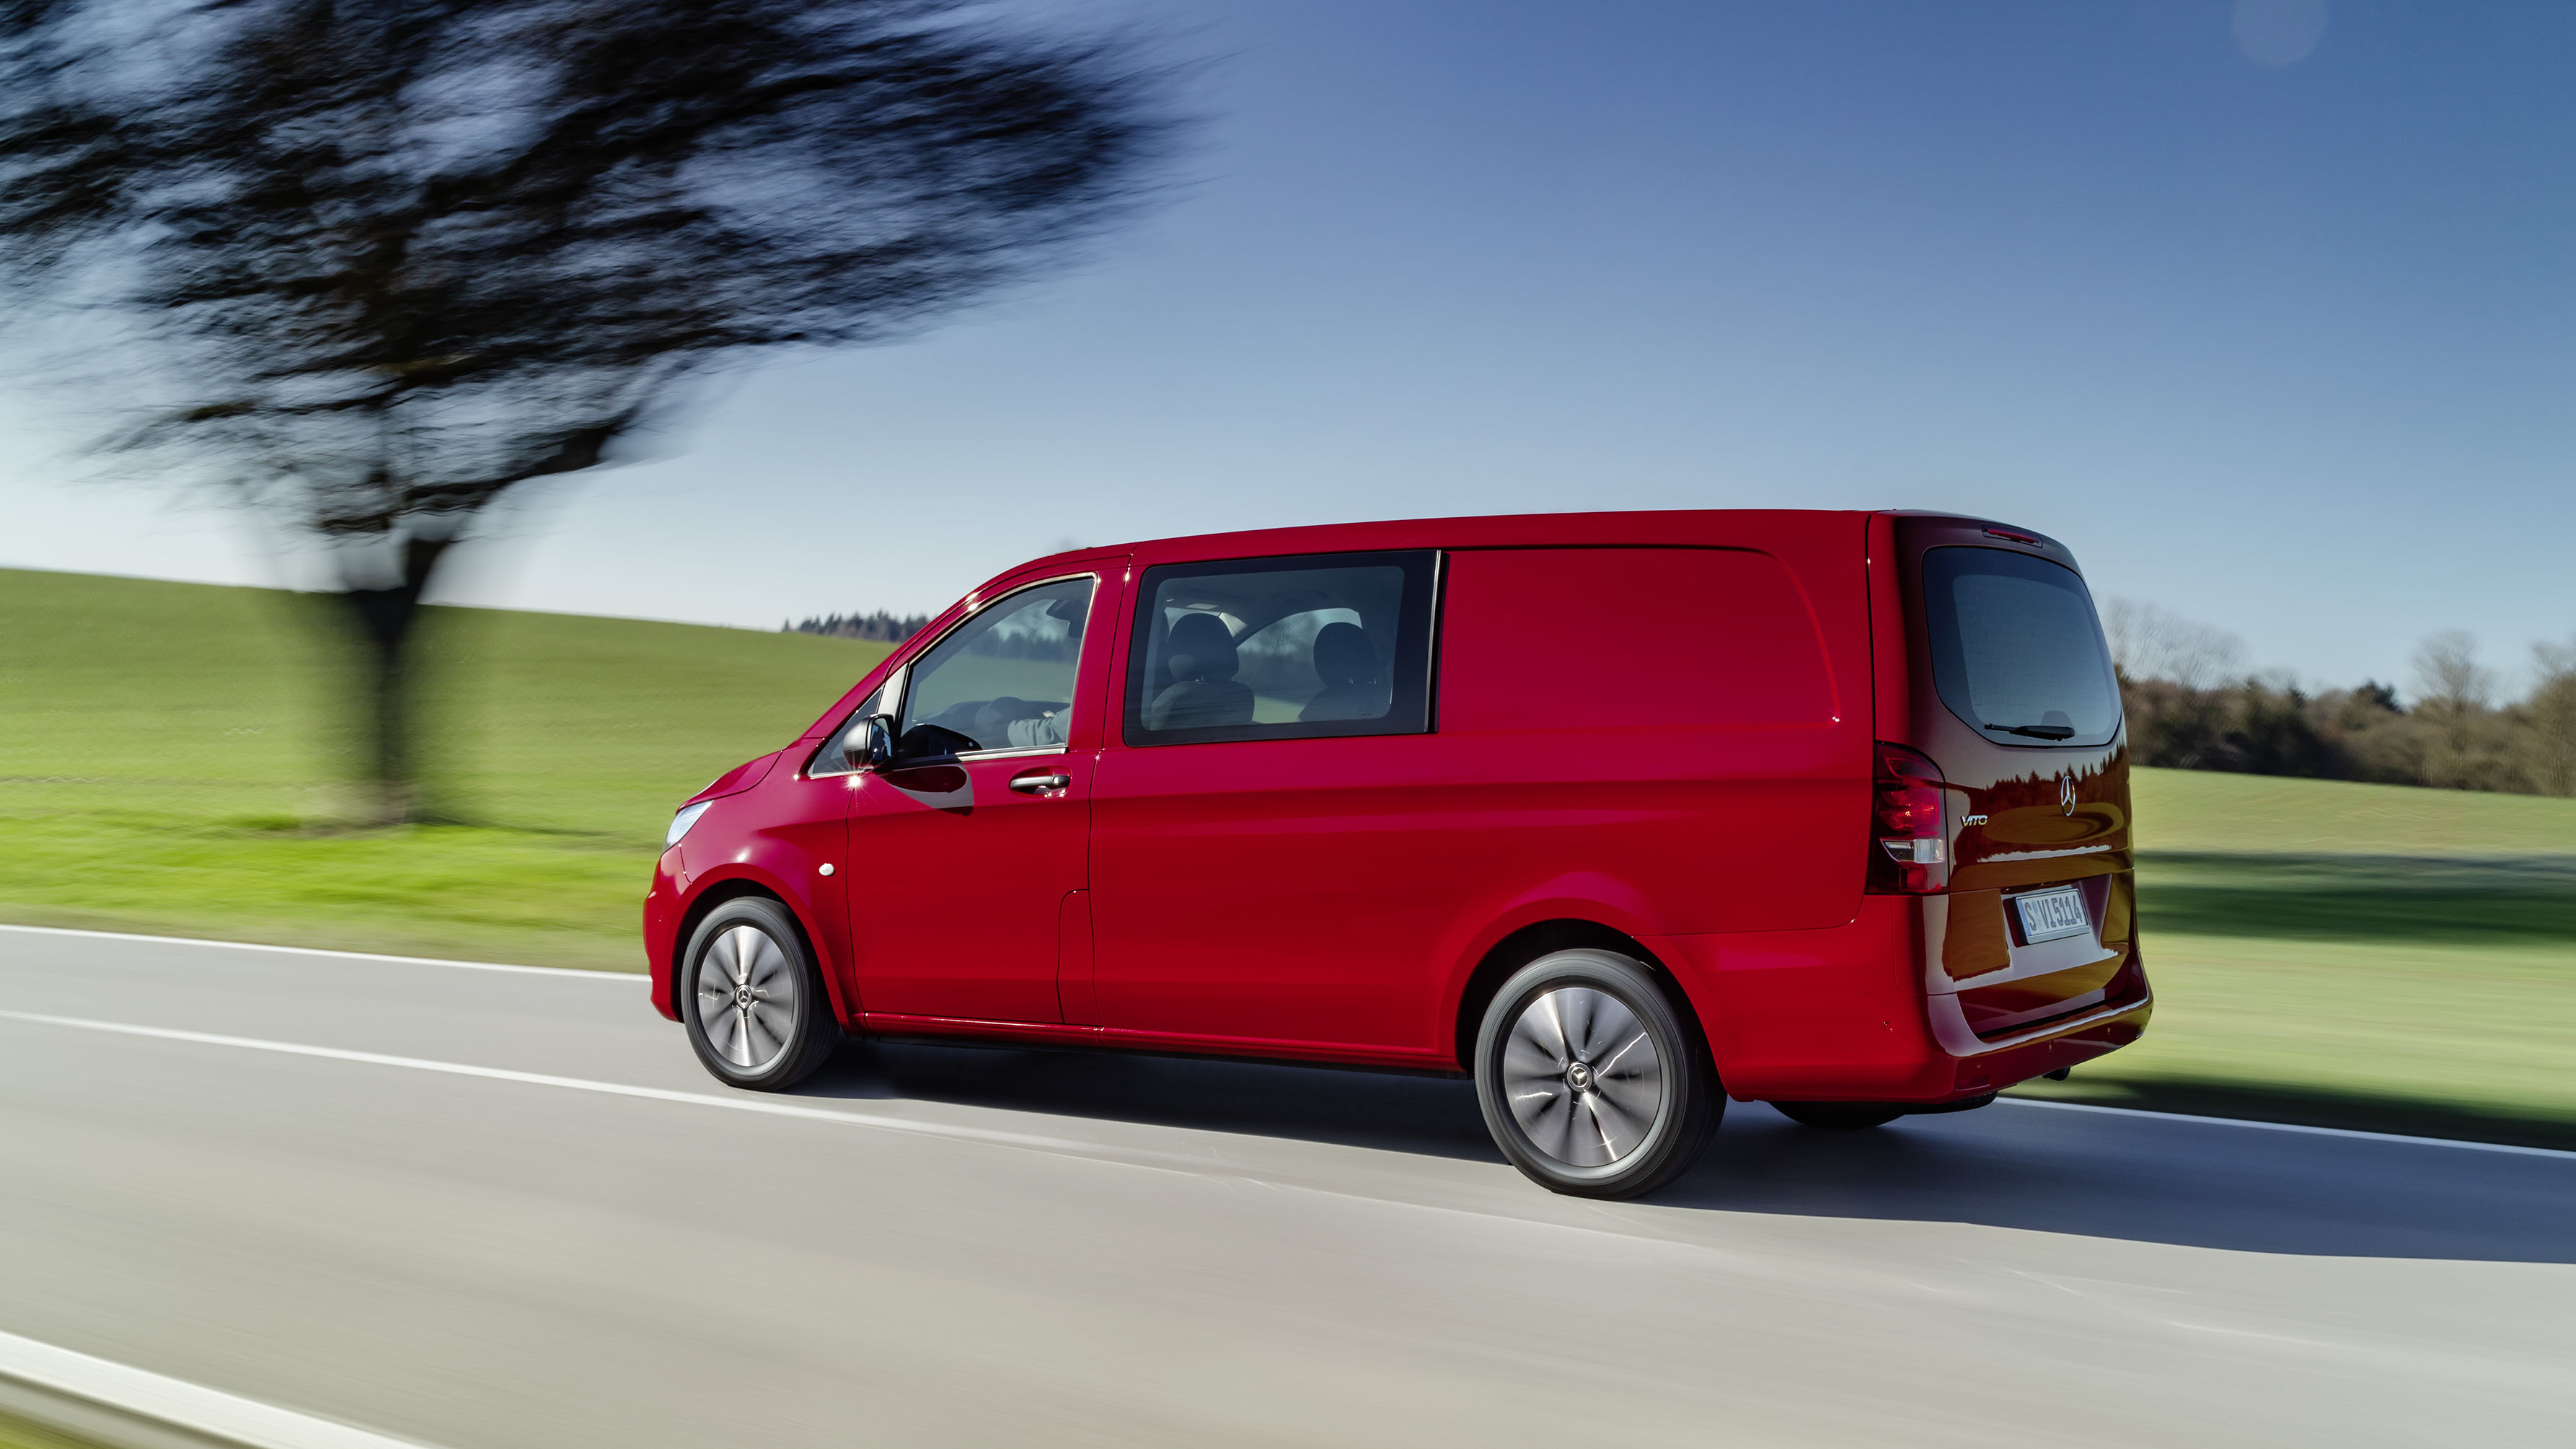
POLYGON ((1453 1065, 1458 993, 1515 926, 1852 920, 1862 523, 1690 518, 1708 547, 1453 547, 1432 735, 1108 743, 1110 1039, 1453 1065))

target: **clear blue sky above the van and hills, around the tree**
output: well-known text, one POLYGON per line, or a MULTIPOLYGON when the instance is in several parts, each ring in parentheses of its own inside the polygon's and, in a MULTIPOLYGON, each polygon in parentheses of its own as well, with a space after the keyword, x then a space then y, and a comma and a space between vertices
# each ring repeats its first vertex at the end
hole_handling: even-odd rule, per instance
MULTIPOLYGON (((775 627, 1066 541, 1914 505, 2311 681, 2576 634, 2576 8, 1128 13, 1206 59, 1159 214, 920 343, 734 379, 448 593, 775 627)), ((0 407, 0 562, 281 578, 0 407)))

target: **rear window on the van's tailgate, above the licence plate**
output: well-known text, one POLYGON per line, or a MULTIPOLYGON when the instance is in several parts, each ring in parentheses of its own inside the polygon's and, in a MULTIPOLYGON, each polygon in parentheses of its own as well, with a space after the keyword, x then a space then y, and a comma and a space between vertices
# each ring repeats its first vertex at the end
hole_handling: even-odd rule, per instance
POLYGON ((1929 549, 1924 627, 1942 704, 1999 745, 2107 745, 2120 683, 2074 570, 2009 549, 1929 549))

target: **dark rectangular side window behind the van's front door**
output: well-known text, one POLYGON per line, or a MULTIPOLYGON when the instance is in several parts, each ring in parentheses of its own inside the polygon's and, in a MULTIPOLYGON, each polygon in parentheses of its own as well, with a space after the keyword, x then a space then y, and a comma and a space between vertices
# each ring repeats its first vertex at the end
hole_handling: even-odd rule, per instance
POLYGON ((1162 565, 1136 593, 1126 743, 1430 730, 1437 554, 1162 565))

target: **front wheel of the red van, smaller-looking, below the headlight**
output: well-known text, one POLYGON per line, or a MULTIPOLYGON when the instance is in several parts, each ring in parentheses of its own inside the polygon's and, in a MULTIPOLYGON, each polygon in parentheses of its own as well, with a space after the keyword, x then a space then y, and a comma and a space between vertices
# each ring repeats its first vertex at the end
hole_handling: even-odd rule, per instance
POLYGON ((698 923, 683 962, 680 1018, 716 1080, 786 1091, 840 1044, 832 998, 786 905, 726 900, 698 923))

